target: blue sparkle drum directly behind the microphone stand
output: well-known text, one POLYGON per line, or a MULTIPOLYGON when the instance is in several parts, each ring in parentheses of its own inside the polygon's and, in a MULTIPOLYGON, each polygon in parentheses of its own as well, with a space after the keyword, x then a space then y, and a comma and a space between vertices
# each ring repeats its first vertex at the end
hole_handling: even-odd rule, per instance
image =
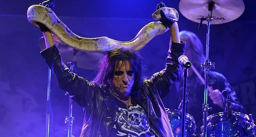
MULTIPOLYGON (((182 115, 179 110, 170 110, 169 108, 165 108, 165 111, 168 114, 168 118, 172 127, 172 132, 174 137, 181 137, 181 132, 182 132, 182 115)), ((186 113, 185 116, 185 136, 184 137, 193 137, 195 136, 195 131, 196 131, 196 122, 193 118, 193 116, 189 115, 186 113)))

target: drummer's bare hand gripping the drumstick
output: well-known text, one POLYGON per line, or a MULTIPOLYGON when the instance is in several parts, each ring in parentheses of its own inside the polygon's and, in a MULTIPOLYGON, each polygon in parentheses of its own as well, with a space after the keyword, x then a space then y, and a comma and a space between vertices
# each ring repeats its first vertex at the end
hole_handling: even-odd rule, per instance
POLYGON ((221 96, 220 90, 218 90, 218 89, 213 90, 212 87, 210 87, 210 88, 212 89, 212 91, 209 90, 209 97, 212 99, 213 104, 223 107, 222 96, 221 96))

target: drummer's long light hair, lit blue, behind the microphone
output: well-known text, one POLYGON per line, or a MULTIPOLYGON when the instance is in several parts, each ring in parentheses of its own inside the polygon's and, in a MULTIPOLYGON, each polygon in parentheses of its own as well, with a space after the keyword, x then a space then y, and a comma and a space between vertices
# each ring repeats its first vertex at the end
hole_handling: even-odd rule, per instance
POLYGON ((204 63, 204 52, 202 42, 199 40, 197 35, 193 32, 184 30, 180 31, 180 40, 186 41, 186 50, 190 50, 192 57, 189 58, 191 63, 198 71, 203 71, 203 67, 200 67, 201 63, 204 63))

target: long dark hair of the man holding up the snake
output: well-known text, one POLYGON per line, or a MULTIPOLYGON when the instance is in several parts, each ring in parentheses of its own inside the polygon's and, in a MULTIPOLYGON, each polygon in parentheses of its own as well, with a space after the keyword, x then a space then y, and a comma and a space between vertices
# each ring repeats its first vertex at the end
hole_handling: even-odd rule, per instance
POLYGON ((111 88, 115 68, 118 65, 122 66, 125 61, 130 62, 130 66, 134 71, 134 84, 132 86, 131 96, 136 97, 146 77, 144 76, 145 67, 143 65, 143 58, 132 47, 122 47, 108 51, 100 60, 97 75, 92 80, 92 83, 106 85, 108 88, 111 88), (122 64, 118 64, 119 61, 122 61, 122 64))

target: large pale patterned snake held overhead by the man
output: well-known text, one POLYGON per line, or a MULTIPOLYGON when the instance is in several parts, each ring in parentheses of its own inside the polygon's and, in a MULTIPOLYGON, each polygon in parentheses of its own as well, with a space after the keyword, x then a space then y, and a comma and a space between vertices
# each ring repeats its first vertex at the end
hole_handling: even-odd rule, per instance
MULTIPOLYGON (((178 21, 179 14, 174 8, 163 7, 167 17, 178 21)), ((152 14, 155 20, 161 19, 160 9, 152 14)), ((150 22, 140 29, 138 34, 130 41, 118 41, 108 37, 84 38, 73 33, 53 12, 44 5, 31 5, 27 11, 28 21, 39 27, 36 22, 40 22, 53 32, 54 41, 65 43, 68 46, 82 52, 103 53, 115 48, 132 46, 135 50, 142 49, 155 36, 163 34, 169 28, 165 27, 160 21, 150 22)))

